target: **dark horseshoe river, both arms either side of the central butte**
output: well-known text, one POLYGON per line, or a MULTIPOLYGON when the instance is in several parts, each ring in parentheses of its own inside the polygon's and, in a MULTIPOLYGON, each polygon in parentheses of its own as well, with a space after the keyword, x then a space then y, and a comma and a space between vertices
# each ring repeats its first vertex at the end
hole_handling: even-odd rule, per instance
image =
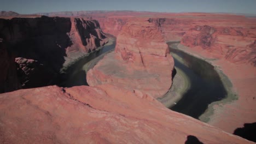
MULTIPOLYGON (((209 104, 226 97, 227 92, 223 86, 222 80, 210 63, 190 56, 178 49, 173 49, 171 46, 174 43, 167 44, 170 46, 170 51, 177 70, 172 89, 173 87, 183 88, 183 91, 176 92, 181 94, 180 99, 178 99, 176 103, 172 103, 168 108, 199 119, 207 110, 209 104), (176 78, 178 76, 179 78, 176 78), (179 85, 177 86, 176 84, 179 85)), ((67 70, 65 76, 63 76, 65 79, 63 79, 60 86, 72 87, 88 85, 86 82, 87 71, 94 67, 106 53, 113 51, 114 47, 115 40, 73 64, 72 67, 67 70)), ((173 94, 173 92, 171 94, 173 94)), ((161 102, 160 99, 158 100, 161 102)))

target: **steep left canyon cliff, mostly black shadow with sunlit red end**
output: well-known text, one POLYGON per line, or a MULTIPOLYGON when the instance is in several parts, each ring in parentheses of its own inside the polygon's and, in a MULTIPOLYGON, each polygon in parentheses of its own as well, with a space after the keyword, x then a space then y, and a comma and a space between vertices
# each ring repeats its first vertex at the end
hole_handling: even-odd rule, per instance
POLYGON ((48 85, 64 63, 68 64, 74 58, 107 43, 107 37, 96 20, 46 16, 0 19, 0 40, 3 63, 0 82, 3 86, 0 92, 13 91, 21 85, 22 88, 48 85), (16 69, 22 62, 16 61, 18 67, 15 67, 15 58, 18 57, 31 59, 37 64, 31 67, 31 63, 30 66, 22 63, 22 67, 30 69, 30 73, 23 73, 20 69, 17 77, 16 69), (38 66, 40 68, 36 68, 38 66), (31 77, 30 74, 33 74, 34 79, 19 79, 31 77), (43 82, 37 79, 42 75, 46 78, 43 82), (8 83, 15 83, 15 86, 8 83))

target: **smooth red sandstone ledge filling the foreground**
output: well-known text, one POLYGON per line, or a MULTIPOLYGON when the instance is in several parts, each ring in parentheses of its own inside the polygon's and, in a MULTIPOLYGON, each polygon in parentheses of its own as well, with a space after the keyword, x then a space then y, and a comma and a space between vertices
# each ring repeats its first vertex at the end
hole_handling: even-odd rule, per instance
POLYGON ((0 94, 1 143, 251 143, 112 85, 0 94))

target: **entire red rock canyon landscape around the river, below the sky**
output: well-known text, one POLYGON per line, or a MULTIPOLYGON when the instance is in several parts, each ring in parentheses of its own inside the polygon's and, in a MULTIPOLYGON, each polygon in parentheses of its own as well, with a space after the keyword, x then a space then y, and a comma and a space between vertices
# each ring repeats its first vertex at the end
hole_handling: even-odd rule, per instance
POLYGON ((138 11, 39 15, 0 19, 1 92, 30 88, 0 94, 1 143, 253 143, 232 133, 256 118, 255 18, 138 11), (89 86, 48 86, 63 65, 104 47, 112 35, 115 50, 86 72, 89 86), (237 99, 209 104, 208 124, 156 100, 173 85, 166 44, 173 41, 232 83, 237 99))

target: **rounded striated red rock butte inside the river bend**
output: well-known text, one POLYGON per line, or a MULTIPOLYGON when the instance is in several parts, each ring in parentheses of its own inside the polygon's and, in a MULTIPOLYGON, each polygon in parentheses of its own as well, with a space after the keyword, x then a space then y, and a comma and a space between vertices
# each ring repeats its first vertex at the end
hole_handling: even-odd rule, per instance
POLYGON ((173 67, 158 27, 137 20, 126 23, 117 37, 115 52, 89 70, 86 80, 90 86, 112 83, 158 98, 171 87, 173 67))

